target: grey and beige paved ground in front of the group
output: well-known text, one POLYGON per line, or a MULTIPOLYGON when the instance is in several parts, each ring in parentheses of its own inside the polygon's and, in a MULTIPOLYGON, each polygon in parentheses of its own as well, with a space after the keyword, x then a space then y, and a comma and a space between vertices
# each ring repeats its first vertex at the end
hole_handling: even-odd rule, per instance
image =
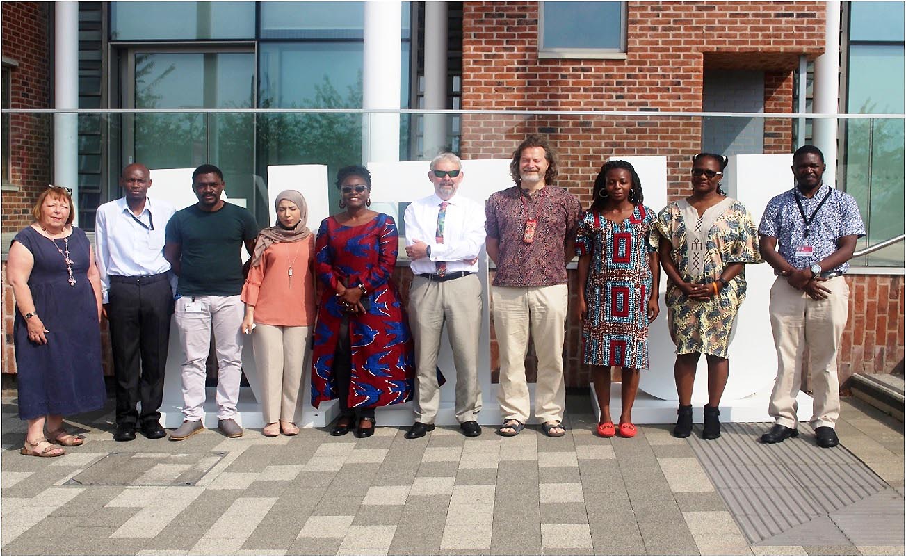
MULTIPOLYGON (((61 458, 20 456, 3 406, 5 554, 903 554, 903 425, 843 401, 844 447, 766 426, 717 441, 641 426, 596 437, 570 396, 566 437, 454 427, 367 439, 303 429, 228 439, 112 440, 112 405, 70 423, 61 458), (822 472, 824 471, 824 474, 822 472), (785 513, 778 515, 778 510, 785 513)), ((699 430, 696 431, 698 435, 699 430)))

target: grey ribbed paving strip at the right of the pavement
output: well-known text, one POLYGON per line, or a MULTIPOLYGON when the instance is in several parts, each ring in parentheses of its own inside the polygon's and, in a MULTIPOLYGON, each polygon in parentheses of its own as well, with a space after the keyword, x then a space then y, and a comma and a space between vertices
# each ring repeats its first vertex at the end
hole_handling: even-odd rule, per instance
POLYGON ((818 447, 811 427, 800 426, 799 437, 775 445, 758 441, 765 431, 765 424, 722 424, 716 441, 689 437, 751 543, 788 545, 785 533, 795 534, 794 545, 813 538, 820 545, 854 543, 878 525, 880 512, 886 537, 902 544, 902 495, 871 468, 842 446, 818 447), (897 508, 891 499, 899 513, 891 511, 897 508))

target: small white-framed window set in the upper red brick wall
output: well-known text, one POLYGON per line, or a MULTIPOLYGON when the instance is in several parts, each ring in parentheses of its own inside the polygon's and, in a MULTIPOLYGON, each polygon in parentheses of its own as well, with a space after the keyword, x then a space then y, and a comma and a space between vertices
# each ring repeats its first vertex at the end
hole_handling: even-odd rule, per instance
POLYGON ((621 2, 545 2, 542 48, 619 50, 621 2))

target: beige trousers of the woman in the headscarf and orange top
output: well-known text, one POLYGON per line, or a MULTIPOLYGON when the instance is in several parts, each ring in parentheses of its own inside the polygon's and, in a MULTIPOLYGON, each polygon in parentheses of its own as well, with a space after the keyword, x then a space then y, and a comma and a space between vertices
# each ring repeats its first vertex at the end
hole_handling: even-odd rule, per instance
POLYGON ((305 384, 303 374, 312 363, 312 327, 255 323, 252 347, 261 380, 265 424, 277 419, 295 423, 302 418, 299 399, 305 384))

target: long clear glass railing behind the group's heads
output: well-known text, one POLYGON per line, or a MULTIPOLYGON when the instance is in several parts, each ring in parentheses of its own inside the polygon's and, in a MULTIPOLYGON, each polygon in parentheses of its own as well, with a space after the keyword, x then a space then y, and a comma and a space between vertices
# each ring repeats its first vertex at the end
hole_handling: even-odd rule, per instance
MULTIPOLYGON (((432 191, 428 164, 390 161, 425 161, 451 149, 466 161, 464 190, 494 191, 512 184, 506 162, 529 133, 549 139, 558 185, 568 187, 583 206, 592 202, 602 163, 631 158, 640 168, 646 204, 660 209, 687 194, 689 158, 707 150, 730 156, 724 189, 760 217, 766 192, 793 186, 789 155, 800 143, 797 137, 803 130, 812 133, 820 118, 518 110, 4 110, 3 230, 24 226, 36 192, 52 179, 77 189, 80 226, 91 230, 97 206, 120 197, 120 169, 131 161, 151 168, 152 195, 184 205, 194 200, 191 169, 215 164, 224 171, 227 197, 246 205, 262 224, 273 213, 268 192, 299 187, 315 195, 317 190, 315 197, 323 197, 320 210, 336 213, 336 170, 380 161, 368 163, 377 203, 401 223, 406 202, 432 191), (54 120, 62 126, 58 130, 74 130, 72 141, 60 139, 67 136, 54 131, 54 120), (475 163, 488 159, 497 162, 475 163)), ((867 235, 857 249, 901 235, 903 116, 847 115, 836 121, 838 160, 825 178, 835 178, 859 205, 867 235)), ((902 268, 902 244, 865 254, 853 265, 902 268)))

